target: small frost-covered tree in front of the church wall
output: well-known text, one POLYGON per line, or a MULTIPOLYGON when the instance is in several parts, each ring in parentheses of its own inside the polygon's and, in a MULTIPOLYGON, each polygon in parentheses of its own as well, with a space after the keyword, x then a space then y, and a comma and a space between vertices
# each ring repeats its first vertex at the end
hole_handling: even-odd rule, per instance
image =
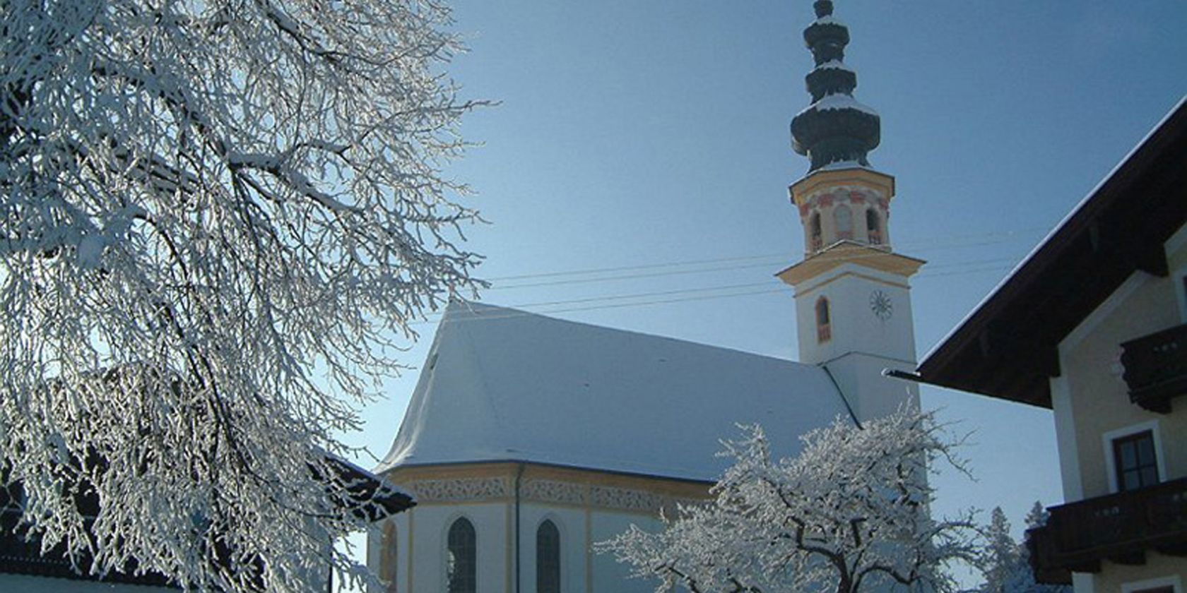
POLYGON ((845 419, 773 461, 762 428, 725 441, 734 463, 711 502, 680 506, 659 533, 631 527, 601 549, 659 580, 655 591, 942 592, 948 562, 976 562, 971 514, 935 521, 928 464, 953 458, 931 414, 900 412, 863 428, 845 419))

